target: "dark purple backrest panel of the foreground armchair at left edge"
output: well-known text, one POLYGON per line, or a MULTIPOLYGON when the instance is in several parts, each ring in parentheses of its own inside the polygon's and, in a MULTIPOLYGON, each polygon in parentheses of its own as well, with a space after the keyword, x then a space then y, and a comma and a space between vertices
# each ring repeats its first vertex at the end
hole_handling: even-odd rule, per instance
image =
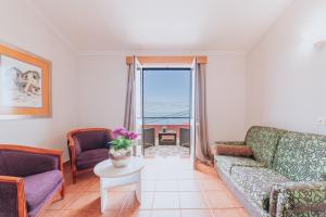
POLYGON ((26 177, 59 169, 59 157, 21 151, 1 151, 0 175, 26 177))

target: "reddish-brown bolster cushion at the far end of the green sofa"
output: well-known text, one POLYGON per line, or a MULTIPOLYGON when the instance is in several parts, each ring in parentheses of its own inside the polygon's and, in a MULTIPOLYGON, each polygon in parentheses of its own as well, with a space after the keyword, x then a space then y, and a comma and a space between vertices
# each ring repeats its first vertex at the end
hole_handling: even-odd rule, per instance
POLYGON ((220 155, 230 155, 230 156, 252 156, 252 150, 247 145, 227 145, 218 144, 216 146, 216 153, 220 155))

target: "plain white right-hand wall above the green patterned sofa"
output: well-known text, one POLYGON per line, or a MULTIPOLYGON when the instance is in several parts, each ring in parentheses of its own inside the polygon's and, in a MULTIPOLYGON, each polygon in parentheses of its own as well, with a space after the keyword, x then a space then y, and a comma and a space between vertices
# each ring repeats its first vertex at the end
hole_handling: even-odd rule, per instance
POLYGON ((247 123, 326 133, 326 1, 296 0, 248 55, 247 123))

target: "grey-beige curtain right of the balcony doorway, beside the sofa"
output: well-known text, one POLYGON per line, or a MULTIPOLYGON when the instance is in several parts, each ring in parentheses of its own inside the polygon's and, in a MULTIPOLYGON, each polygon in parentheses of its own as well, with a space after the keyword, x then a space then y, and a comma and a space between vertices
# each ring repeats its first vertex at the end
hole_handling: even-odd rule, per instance
POLYGON ((195 118, 196 118, 196 158, 200 162, 212 165, 208 136, 206 116, 206 64, 196 62, 196 92, 195 92, 195 118))

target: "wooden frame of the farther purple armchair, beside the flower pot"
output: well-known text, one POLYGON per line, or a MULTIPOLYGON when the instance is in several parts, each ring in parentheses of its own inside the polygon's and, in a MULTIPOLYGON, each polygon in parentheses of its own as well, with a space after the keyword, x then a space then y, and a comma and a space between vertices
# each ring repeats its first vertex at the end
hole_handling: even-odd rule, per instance
POLYGON ((67 146, 68 146, 68 151, 70 151, 70 157, 71 157, 71 166, 72 166, 72 175, 73 175, 73 183, 76 183, 76 178, 77 175, 79 174, 84 174, 84 173, 88 173, 90 171, 92 168, 87 168, 87 169, 77 169, 77 156, 76 156, 76 150, 75 150, 75 140, 74 140, 74 135, 78 133, 78 132, 90 132, 90 131, 106 131, 109 138, 113 138, 112 137, 112 130, 108 129, 108 128, 83 128, 83 129, 75 129, 70 131, 66 135, 67 138, 67 146))

